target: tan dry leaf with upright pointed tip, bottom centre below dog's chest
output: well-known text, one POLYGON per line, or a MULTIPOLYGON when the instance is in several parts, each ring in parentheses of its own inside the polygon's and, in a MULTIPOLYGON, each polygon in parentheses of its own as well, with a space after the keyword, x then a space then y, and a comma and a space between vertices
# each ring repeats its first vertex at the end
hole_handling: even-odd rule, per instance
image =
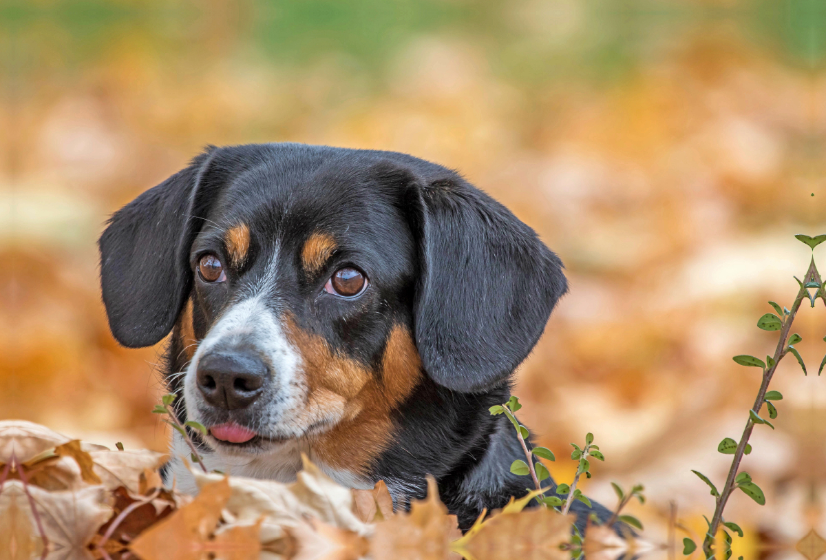
POLYGON ((450 543, 461 536, 456 516, 439 501, 439 490, 428 477, 427 499, 414 501, 410 514, 393 515, 376 525, 370 553, 375 560, 444 560, 458 558, 450 543))

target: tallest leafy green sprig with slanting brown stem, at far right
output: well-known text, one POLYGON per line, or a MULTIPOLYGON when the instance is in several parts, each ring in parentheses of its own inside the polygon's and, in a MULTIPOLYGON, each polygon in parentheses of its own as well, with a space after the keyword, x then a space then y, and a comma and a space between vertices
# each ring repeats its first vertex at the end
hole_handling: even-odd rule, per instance
MULTIPOLYGON (((795 238, 809 245, 813 251, 817 245, 826 241, 826 235, 818 235, 816 237, 809 237, 809 235, 795 235, 795 238)), ((705 521, 708 524, 708 532, 705 534, 705 539, 702 545, 705 558, 714 557, 714 541, 718 530, 722 530, 724 539, 720 552, 723 553, 725 558, 729 558, 731 555, 732 537, 728 531, 720 528, 721 524, 733 533, 737 533, 738 536, 743 536, 743 529, 740 529, 738 524, 731 521, 726 521, 723 518, 723 511, 733 491, 739 489, 758 504, 766 504, 766 496, 763 494, 760 486, 757 486, 757 484, 752 481, 752 477, 748 474, 748 472, 738 472, 740 462, 743 460, 743 455, 748 455, 752 452, 752 446, 748 443, 748 439, 751 437, 752 429, 754 429, 755 425, 767 425, 771 429, 774 429, 774 425, 772 425, 769 420, 763 418, 760 415, 760 411, 763 405, 765 405, 768 411, 769 419, 774 420, 777 417, 777 408, 771 401, 781 401, 783 396, 780 392, 768 390, 771 377, 774 376, 777 364, 780 363, 781 359, 785 358, 787 354, 792 354, 797 360, 797 363, 800 363, 800 368, 803 369, 803 374, 807 374, 805 363, 803 363, 803 358, 800 357, 800 352, 798 352, 794 346, 794 344, 799 343, 803 340, 803 338, 796 333, 790 335, 791 325, 795 320, 797 311, 800 309, 800 304, 803 302, 804 298, 811 302, 812 307, 814 307, 814 301, 818 298, 822 299, 824 304, 826 304, 824 282, 820 278, 818 269, 814 264, 814 258, 809 263, 809 269, 806 271, 803 280, 800 281, 797 277, 795 277, 795 280, 797 280, 800 290, 797 292, 797 296, 795 297, 795 301, 792 304, 791 309, 789 310, 786 307, 781 307, 774 301, 769 301, 769 305, 772 309, 774 309, 774 311, 776 311, 776 315, 774 313, 767 313, 757 320, 757 327, 762 330, 780 331, 780 337, 777 341, 774 355, 766 356, 765 362, 760 358, 755 358, 754 356, 748 355, 734 356, 733 358, 734 362, 740 365, 752 368, 761 368, 762 383, 760 384, 760 389, 757 391, 757 398, 754 401, 754 405, 748 411, 746 427, 743 429, 743 435, 740 437, 739 442, 734 441, 731 438, 725 438, 717 446, 717 451, 719 453, 731 454, 734 456, 732 458, 731 467, 729 468, 729 475, 726 477, 723 489, 718 491, 717 487, 714 486, 714 483, 711 482, 709 477, 706 477, 701 472, 691 471, 710 487, 711 496, 714 496, 714 515, 711 520, 705 518, 705 521), (814 291, 810 292, 810 290, 814 291)), ((824 341, 826 341, 826 338, 824 338, 824 341)), ((818 375, 820 375, 823 371, 824 366, 826 366, 826 356, 824 356, 823 361, 820 363, 818 375)), ((683 539, 683 544, 683 554, 686 555, 693 553, 697 548, 696 543, 691 539, 683 539)))

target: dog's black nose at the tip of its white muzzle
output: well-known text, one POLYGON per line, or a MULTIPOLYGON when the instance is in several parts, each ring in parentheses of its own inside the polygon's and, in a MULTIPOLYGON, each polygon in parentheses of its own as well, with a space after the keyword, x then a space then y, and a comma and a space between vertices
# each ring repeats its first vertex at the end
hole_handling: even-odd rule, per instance
POLYGON ((267 378, 267 366, 248 351, 211 352, 198 362, 197 383, 204 399, 230 411, 251 405, 267 378))

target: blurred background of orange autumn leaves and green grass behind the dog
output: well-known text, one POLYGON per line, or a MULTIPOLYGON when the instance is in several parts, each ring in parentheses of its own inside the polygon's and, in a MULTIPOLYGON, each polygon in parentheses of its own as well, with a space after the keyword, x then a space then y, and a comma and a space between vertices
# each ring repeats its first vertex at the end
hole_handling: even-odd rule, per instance
MULTIPOLYGON (((793 235, 826 233, 824 29, 816 0, 7 0, 0 418, 163 450, 161 346, 118 348, 100 302, 107 216, 207 144, 394 149, 458 168, 566 263, 515 391, 553 475, 592 431, 587 495, 642 482, 649 538, 671 501, 703 534, 691 469, 722 486, 760 381, 731 357, 773 353, 756 320, 806 272, 793 235)), ((826 534, 824 319, 795 323, 809 377, 788 358, 772 382, 776 430, 743 462, 768 505, 729 502, 734 558, 826 534)))

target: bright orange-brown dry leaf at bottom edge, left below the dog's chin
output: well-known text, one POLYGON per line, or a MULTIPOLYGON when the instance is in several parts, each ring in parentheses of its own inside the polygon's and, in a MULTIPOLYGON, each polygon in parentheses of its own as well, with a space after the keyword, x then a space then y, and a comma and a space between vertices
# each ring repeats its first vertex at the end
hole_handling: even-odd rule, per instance
POLYGON ((230 560, 257 560, 261 549, 257 526, 210 539, 231 493, 227 477, 202 486, 191 503, 140 534, 129 548, 143 560, 201 560, 210 552, 225 553, 228 556, 219 558, 230 560))

